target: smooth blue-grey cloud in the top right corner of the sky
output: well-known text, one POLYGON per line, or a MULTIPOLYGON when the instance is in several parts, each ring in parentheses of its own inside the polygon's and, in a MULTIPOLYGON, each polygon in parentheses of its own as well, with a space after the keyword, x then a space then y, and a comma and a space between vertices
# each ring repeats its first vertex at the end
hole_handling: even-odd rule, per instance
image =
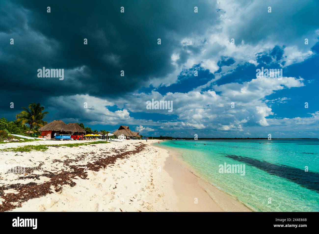
MULTIPOLYGON (((244 41, 249 44, 257 44, 261 39, 273 39, 284 44, 302 45, 305 38, 312 38, 318 28, 319 2, 305 0, 286 1, 238 1, 241 7, 231 6, 233 13, 241 15, 241 11, 249 10, 249 14, 241 15, 241 18, 233 21, 233 27, 228 28, 228 34, 237 42, 244 41), (271 7, 271 13, 268 12, 271 7)), ((237 5, 235 3, 234 5, 237 5)))

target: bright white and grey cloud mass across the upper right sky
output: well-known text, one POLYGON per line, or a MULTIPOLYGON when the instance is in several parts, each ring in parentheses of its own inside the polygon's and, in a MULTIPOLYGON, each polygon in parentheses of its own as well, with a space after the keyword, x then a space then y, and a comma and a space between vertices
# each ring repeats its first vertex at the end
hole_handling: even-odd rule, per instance
POLYGON ((309 28, 306 30, 302 24, 291 24, 291 12, 299 9, 294 17, 304 17, 303 13, 314 9, 315 3, 307 1, 300 6, 298 1, 292 1, 289 5, 271 1, 269 4, 273 10, 285 9, 280 14, 268 13, 268 5, 257 0, 225 0, 214 4, 215 2, 212 3, 212 8, 220 9, 216 24, 207 26, 202 34, 193 33, 180 39, 181 46, 172 51, 172 59, 176 61, 176 54, 184 54, 186 59, 181 64, 176 64, 171 74, 152 80, 154 87, 175 83, 183 69, 197 64, 214 73, 219 69, 217 62, 221 56, 232 57, 235 63, 221 67, 222 71, 200 88, 209 87, 211 82, 232 73, 236 67, 246 62, 257 66, 258 55, 269 53, 275 46, 284 48, 279 61, 283 67, 300 63, 314 55, 310 48, 318 42, 318 26, 307 25, 309 28), (278 25, 278 22, 282 24, 278 25), (304 45, 305 38, 309 39, 309 45, 304 45), (234 45, 231 39, 234 39, 234 45))

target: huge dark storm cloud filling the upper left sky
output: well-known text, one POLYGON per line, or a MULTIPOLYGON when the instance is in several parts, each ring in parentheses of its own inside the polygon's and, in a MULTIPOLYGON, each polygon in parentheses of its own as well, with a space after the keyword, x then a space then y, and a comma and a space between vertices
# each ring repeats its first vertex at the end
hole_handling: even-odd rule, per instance
POLYGON ((4 1, 0 13, 0 89, 17 105, 48 96, 107 98, 137 90, 172 73, 171 55, 181 40, 204 33, 204 25, 219 18, 204 1, 4 1), (38 78, 42 67, 64 68, 64 80, 38 78))

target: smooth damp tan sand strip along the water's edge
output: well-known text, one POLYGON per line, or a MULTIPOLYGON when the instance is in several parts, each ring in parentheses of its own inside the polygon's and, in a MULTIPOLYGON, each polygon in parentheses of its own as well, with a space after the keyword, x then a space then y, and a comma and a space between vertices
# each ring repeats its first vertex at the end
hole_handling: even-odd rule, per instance
MULTIPOLYGON (((206 195, 209 196, 211 202, 213 202, 217 207, 218 210, 211 210, 211 211, 225 211, 225 212, 254 212, 254 210, 247 207, 244 203, 239 201, 236 197, 227 194, 224 191, 219 190, 218 188, 211 185, 208 181, 202 178, 195 170, 191 168, 191 166, 182 159, 182 154, 178 151, 174 151, 168 147, 162 147, 152 144, 153 146, 157 146, 159 148, 167 150, 169 157, 165 161, 165 165, 170 163, 175 163, 174 167, 166 167, 168 174, 173 178, 173 181, 176 183, 181 183, 185 176, 192 178, 192 188, 197 190, 197 194, 204 192, 206 195), (175 162, 174 162, 175 161, 175 162), (182 175, 177 175, 174 173, 176 169, 180 169, 182 175), (191 175, 190 175, 191 174, 191 175)), ((178 188, 175 188, 178 197, 182 197, 182 191, 178 188)), ((206 200, 206 202, 209 202, 206 200)), ((180 204, 182 207, 182 204, 180 204)), ((183 208, 183 207, 182 207, 183 208)))

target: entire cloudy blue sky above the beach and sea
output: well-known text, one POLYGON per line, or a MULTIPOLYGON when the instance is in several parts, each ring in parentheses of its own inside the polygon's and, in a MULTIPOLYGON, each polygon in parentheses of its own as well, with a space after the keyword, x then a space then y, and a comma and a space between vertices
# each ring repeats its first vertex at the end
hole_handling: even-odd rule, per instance
POLYGON ((48 122, 93 130, 319 137, 318 1, 182 2, 112 2, 106 15, 85 2, 57 1, 48 13, 41 1, 2 1, 3 116, 40 102, 48 122), (64 80, 38 78, 42 67, 63 68, 64 80), (256 77, 262 67, 282 69, 282 79, 256 77), (147 109, 152 99, 172 102, 172 112, 147 109))

